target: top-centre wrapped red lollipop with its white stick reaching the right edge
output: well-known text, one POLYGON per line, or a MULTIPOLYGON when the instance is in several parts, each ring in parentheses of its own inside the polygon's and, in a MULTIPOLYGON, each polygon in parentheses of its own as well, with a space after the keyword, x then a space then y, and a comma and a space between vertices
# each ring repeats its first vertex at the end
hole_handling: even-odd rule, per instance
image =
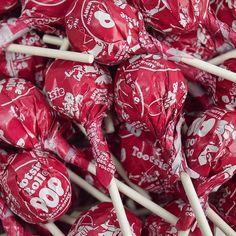
POLYGON ((102 64, 118 64, 140 53, 161 53, 235 80, 234 73, 192 58, 151 37, 144 28, 141 13, 122 1, 75 1, 66 15, 66 31, 73 49, 94 55, 102 64))

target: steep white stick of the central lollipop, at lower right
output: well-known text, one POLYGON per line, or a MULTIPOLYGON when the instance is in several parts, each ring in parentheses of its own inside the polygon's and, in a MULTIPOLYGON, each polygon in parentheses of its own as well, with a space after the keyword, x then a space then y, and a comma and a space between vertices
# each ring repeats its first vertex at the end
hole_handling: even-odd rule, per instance
POLYGON ((211 228, 208 224, 208 221, 206 219, 206 215, 204 214, 204 211, 201 207, 201 204, 199 202, 197 193, 195 191, 195 188, 193 186, 192 180, 189 177, 189 175, 185 172, 181 172, 180 179, 183 184, 185 193, 187 195, 187 198, 189 200, 189 203, 193 209, 193 212, 195 214, 196 220, 198 222, 198 226, 205 236, 213 236, 211 232, 211 228))

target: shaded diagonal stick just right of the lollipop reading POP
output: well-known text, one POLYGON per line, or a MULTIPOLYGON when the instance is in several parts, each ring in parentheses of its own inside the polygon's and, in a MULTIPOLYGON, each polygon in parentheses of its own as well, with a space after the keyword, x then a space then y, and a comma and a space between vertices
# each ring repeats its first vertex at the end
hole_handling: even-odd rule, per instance
POLYGON ((80 176, 72 172, 70 169, 67 169, 68 174, 71 180, 80 186, 82 189, 90 193, 94 198, 98 199, 100 202, 111 202, 111 199, 106 196, 106 194, 102 193, 101 191, 97 190, 91 184, 87 183, 84 179, 80 176))

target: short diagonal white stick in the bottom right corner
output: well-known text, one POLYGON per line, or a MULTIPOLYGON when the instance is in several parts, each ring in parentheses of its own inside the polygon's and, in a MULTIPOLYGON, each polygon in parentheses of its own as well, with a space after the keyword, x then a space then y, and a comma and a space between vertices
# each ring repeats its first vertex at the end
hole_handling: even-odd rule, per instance
POLYGON ((210 207, 206 209, 206 215, 227 236, 236 235, 236 232, 210 207))

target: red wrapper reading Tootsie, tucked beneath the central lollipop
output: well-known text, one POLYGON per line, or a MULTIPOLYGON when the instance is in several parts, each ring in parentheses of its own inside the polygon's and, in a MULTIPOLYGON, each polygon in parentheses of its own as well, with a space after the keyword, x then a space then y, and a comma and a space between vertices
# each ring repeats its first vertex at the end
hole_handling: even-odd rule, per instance
POLYGON ((147 191, 165 195, 165 200, 169 201, 175 194, 175 186, 167 177, 170 166, 163 158, 158 140, 128 124, 121 126, 119 135, 121 163, 129 179, 147 191))

